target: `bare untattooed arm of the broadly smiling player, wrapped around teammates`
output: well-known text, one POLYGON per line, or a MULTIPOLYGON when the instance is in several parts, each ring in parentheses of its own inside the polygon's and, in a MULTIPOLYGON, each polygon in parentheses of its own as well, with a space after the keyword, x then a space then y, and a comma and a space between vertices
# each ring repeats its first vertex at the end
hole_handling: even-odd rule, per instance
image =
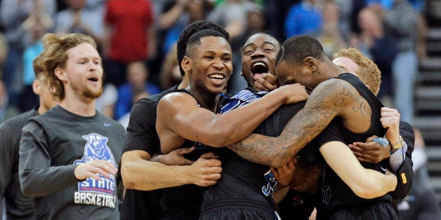
POLYGON ((157 109, 157 132, 162 152, 178 148, 183 139, 214 147, 238 142, 282 104, 305 100, 308 94, 304 89, 299 84, 287 85, 225 114, 214 114, 199 107, 193 97, 183 92, 166 95, 159 101, 157 109))

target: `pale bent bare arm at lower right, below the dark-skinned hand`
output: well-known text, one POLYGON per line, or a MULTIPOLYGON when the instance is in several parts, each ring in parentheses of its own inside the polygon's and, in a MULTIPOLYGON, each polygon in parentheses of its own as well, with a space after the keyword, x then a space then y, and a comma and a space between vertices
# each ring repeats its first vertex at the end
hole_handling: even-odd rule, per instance
POLYGON ((361 198, 376 198, 395 189, 397 177, 362 167, 343 142, 328 142, 320 147, 327 164, 361 198))

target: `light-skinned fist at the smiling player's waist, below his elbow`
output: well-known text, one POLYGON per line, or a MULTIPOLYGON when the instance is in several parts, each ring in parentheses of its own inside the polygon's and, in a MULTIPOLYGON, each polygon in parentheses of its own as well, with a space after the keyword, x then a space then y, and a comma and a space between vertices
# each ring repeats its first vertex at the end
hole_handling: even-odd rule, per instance
POLYGON ((198 186, 212 186, 221 178, 221 160, 213 153, 204 153, 190 165, 192 183, 198 186))

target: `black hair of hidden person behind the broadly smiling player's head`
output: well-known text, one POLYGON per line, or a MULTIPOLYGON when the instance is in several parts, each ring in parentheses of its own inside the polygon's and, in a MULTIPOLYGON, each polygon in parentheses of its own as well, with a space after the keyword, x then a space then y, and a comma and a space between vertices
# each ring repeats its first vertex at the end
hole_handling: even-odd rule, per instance
POLYGON ((178 43, 176 44, 176 57, 178 57, 179 71, 180 75, 182 76, 184 76, 185 72, 182 67, 180 67, 180 62, 182 62, 185 57, 185 52, 187 50, 187 41, 188 39, 190 39, 190 36, 204 29, 213 29, 223 34, 224 38, 227 39, 227 41, 230 41, 230 34, 228 34, 228 32, 225 31, 225 29, 221 25, 218 25, 215 22, 211 22, 208 20, 198 20, 192 22, 190 25, 187 25, 183 32, 180 33, 178 43))

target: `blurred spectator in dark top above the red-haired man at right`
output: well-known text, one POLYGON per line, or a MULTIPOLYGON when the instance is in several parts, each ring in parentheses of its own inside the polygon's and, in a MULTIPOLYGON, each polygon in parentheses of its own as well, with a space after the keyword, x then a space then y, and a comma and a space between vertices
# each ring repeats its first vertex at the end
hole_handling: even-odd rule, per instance
POLYGON ((396 39, 386 33, 381 18, 373 8, 363 8, 358 15, 360 35, 353 37, 350 46, 360 48, 360 51, 373 60, 381 71, 381 87, 378 97, 386 106, 390 106, 393 95, 392 64, 397 55, 396 39))

